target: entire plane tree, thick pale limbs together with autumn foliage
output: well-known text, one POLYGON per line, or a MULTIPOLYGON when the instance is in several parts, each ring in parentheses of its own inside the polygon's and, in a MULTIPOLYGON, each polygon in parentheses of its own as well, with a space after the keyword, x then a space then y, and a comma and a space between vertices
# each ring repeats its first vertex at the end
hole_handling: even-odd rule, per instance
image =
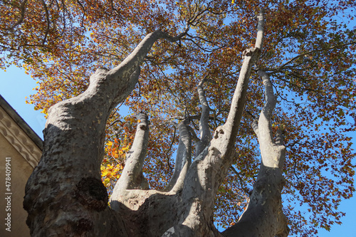
POLYGON ((355 131, 347 122, 356 117, 355 30, 333 16, 346 11, 352 19, 352 3, 23 1, 1 8, 9 13, 1 16, 1 62, 25 63, 41 78, 31 102, 48 115, 24 201, 33 236, 221 236, 213 223, 214 214, 226 218, 214 211, 221 206, 236 223, 224 236, 286 236, 287 222, 292 233, 310 236, 340 222, 340 197, 354 191, 346 132, 355 131), (266 30, 257 9, 266 9, 266 30), (83 80, 104 65, 113 69, 83 80), (283 101, 276 113, 270 77, 283 101), (136 132, 132 117, 117 114, 122 102, 144 111, 136 132), (120 176, 110 208, 100 168, 110 189, 109 177, 120 176), (295 200, 313 211, 314 227, 293 212, 295 200))

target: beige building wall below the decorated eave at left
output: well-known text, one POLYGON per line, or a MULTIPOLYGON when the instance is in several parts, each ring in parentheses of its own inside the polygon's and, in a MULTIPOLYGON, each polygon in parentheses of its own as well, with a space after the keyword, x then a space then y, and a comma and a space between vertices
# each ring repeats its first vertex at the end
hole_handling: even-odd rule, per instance
POLYGON ((30 236, 26 225, 27 213, 23 210, 22 202, 26 181, 32 171, 33 168, 26 162, 26 159, 23 159, 21 154, 13 147, 13 144, 10 144, 0 133, 0 236, 30 236), (6 157, 11 157, 11 212, 6 211, 6 157), (11 213, 11 232, 6 231, 5 218, 7 213, 11 213))

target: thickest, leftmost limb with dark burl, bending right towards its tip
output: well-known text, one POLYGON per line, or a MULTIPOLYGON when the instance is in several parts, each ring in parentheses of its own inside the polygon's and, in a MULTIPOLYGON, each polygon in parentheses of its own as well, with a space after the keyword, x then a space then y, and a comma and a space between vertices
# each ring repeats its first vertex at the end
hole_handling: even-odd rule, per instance
POLYGON ((23 201, 32 236, 130 236, 101 182, 105 122, 135 88, 140 63, 160 38, 179 39, 148 34, 116 68, 96 70, 83 94, 48 110, 43 154, 23 201))

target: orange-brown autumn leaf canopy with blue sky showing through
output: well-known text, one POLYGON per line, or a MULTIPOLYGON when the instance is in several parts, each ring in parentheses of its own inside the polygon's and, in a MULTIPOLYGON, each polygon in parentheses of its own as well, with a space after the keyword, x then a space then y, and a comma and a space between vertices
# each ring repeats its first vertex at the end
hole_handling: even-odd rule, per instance
POLYGON ((355 191, 355 7, 353 1, 318 0, 1 1, 0 67, 24 67, 38 80, 28 102, 47 115, 52 105, 83 93, 97 68, 122 63, 148 34, 176 36, 152 46, 135 89, 112 111, 101 164, 112 191, 141 122, 136 115, 145 112, 150 142, 143 173, 150 189, 164 189, 174 173, 180 122, 189 119, 197 137, 201 113, 208 113, 211 134, 226 122, 264 9, 263 48, 251 71, 236 162, 216 194, 214 221, 234 225, 256 181, 261 154, 251 124, 264 105, 263 71, 278 95, 271 127, 285 139, 283 211, 290 233, 313 236, 341 223, 345 214, 337 206, 355 191))

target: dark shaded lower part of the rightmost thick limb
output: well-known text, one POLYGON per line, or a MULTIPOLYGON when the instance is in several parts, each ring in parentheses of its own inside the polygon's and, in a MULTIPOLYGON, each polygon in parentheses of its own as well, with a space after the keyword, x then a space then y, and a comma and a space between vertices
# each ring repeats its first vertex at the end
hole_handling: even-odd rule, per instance
POLYGON ((246 211, 238 223, 223 232, 224 236, 288 236, 281 199, 284 184, 281 169, 261 164, 246 211))

